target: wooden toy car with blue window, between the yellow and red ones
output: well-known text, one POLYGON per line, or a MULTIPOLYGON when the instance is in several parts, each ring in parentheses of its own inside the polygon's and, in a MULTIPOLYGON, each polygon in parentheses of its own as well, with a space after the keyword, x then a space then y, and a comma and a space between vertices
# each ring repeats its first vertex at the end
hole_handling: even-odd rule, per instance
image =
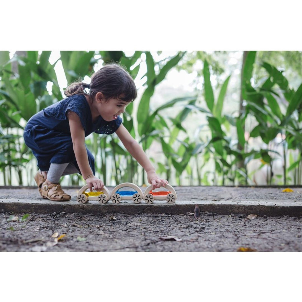
POLYGON ((110 197, 114 204, 118 204, 123 199, 132 199, 139 204, 143 199, 143 191, 131 182, 124 182, 113 189, 110 197))

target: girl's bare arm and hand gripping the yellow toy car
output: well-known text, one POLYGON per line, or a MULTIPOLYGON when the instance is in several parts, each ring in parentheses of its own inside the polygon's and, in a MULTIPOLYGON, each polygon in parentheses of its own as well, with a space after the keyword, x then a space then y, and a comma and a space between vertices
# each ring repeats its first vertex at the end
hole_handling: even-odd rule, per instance
POLYGON ((73 111, 68 111, 67 117, 69 120, 73 151, 75 153, 76 162, 79 165, 82 176, 87 185, 89 185, 90 191, 92 191, 92 187, 94 187, 95 190, 100 191, 104 187, 104 183, 93 175, 90 168, 85 147, 85 131, 82 127, 80 118, 73 111))

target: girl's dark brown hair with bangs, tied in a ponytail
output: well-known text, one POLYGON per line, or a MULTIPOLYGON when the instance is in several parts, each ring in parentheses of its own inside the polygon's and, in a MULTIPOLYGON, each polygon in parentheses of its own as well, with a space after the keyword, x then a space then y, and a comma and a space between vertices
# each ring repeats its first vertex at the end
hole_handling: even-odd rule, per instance
POLYGON ((107 64, 91 77, 90 85, 83 82, 70 84, 64 94, 71 96, 75 94, 86 94, 85 88, 90 89, 90 97, 94 100, 95 95, 101 92, 105 99, 116 98, 126 102, 137 98, 137 89, 130 74, 116 63, 107 64))

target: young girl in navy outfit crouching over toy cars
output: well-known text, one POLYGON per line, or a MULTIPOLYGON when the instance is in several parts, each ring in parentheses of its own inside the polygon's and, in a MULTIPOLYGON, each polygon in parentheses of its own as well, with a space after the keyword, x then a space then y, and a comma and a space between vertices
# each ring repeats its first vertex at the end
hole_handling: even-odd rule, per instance
POLYGON ((95 176, 95 160, 85 146, 90 133, 116 133, 129 153, 142 165, 152 188, 165 186, 143 149, 122 124, 120 114, 137 98, 131 76, 117 64, 95 72, 89 85, 76 82, 66 88, 67 98, 35 114, 24 129, 24 141, 37 158, 39 171, 35 181, 43 198, 69 201, 59 184, 62 175, 80 173, 89 185, 104 187, 95 176), (85 92, 89 89, 89 93, 85 92))

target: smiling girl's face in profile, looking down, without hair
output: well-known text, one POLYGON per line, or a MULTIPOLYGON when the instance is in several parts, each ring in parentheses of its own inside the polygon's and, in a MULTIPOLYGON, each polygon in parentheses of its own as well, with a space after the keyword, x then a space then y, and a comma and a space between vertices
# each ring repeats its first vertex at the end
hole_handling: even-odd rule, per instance
POLYGON ((111 120, 116 120, 121 113, 124 113, 128 104, 130 102, 116 98, 110 98, 109 100, 102 99, 98 103, 98 112, 104 120, 110 122, 111 120))

